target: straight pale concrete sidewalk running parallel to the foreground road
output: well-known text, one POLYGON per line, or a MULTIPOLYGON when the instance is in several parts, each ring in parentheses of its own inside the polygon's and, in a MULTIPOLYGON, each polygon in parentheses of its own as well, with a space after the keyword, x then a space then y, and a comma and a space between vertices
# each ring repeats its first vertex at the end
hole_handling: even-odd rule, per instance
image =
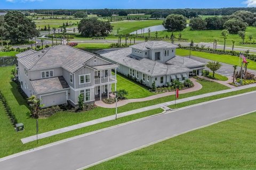
MULTIPOLYGON (((252 88, 252 87, 256 87, 256 83, 249 84, 249 85, 246 85, 246 86, 237 87, 237 88, 233 88, 233 89, 221 90, 221 91, 216 91, 216 92, 210 92, 208 94, 202 94, 202 95, 198 95, 198 96, 192 96, 192 97, 187 97, 187 98, 183 98, 183 99, 178 99, 178 100, 176 100, 176 104, 183 103, 183 102, 186 102, 186 101, 196 100, 196 99, 200 99, 200 98, 204 98, 204 97, 226 94, 228 92, 238 91, 238 90, 242 90, 242 89, 248 89, 248 88, 252 88)), ((129 116, 129 115, 133 115, 133 114, 137 114, 137 113, 141 113, 141 112, 145 112, 145 111, 150 111, 150 110, 153 110, 153 109, 156 109, 156 108, 162 108, 162 107, 166 107, 166 106, 170 106, 170 105, 174 105, 174 101, 168 101, 168 102, 162 103, 162 104, 157 104, 157 105, 152 105, 152 106, 148 106, 148 107, 142 107, 142 108, 134 109, 132 111, 119 113, 117 116, 118 116, 118 118, 120 118, 120 117, 129 116)), ((65 132, 68 132, 68 131, 73 131, 73 130, 76 130, 76 129, 84 128, 86 126, 90 126, 90 125, 94 125, 94 124, 98 124, 98 123, 102 123, 102 122, 107 122, 107 121, 111 121, 111 120, 115 120, 115 115, 102 117, 102 118, 98 118, 97 120, 92 120, 92 121, 88 121, 88 122, 68 126, 66 128, 61 128, 61 129, 41 133, 41 134, 38 134, 38 139, 51 137, 51 136, 56 135, 56 134, 61 134, 61 133, 65 133, 65 132)), ((36 140, 36 135, 21 139, 23 144, 31 142, 31 141, 35 141, 35 140, 36 140)))

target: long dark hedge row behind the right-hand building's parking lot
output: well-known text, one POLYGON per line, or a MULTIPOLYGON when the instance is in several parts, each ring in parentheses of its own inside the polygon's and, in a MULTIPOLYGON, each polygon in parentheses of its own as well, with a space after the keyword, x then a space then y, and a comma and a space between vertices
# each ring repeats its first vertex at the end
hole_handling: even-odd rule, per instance
MULTIPOLYGON (((214 50, 214 49, 212 49, 210 47, 204 48, 204 47, 198 47, 198 46, 182 47, 180 44, 178 46, 181 49, 191 49, 191 50, 194 50, 194 51, 197 51, 197 52, 205 52, 205 53, 212 53, 212 54, 226 54, 226 55, 239 56, 239 52, 235 52, 235 51, 225 51, 224 52, 223 50, 220 50, 220 49, 214 50)), ((244 56, 247 59, 256 62, 256 55, 245 53, 244 56)))

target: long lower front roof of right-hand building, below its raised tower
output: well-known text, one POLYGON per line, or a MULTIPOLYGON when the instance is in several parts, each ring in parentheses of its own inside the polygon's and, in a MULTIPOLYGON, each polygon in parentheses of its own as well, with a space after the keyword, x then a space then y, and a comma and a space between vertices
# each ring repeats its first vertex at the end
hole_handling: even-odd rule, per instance
POLYGON ((184 73, 191 70, 183 66, 173 66, 152 61, 148 58, 141 58, 132 55, 132 48, 123 48, 115 50, 113 52, 101 54, 103 58, 130 67, 139 72, 145 73, 151 76, 159 76, 165 74, 184 73))

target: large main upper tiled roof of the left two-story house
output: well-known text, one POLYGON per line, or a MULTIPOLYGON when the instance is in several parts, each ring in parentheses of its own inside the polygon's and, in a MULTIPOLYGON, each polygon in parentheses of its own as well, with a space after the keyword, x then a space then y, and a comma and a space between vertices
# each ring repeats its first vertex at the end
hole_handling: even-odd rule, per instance
POLYGON ((95 55, 67 45, 45 48, 34 53, 32 51, 18 54, 18 61, 29 70, 42 70, 62 67, 74 73, 86 65, 95 55), (18 56, 19 55, 19 56, 18 56))

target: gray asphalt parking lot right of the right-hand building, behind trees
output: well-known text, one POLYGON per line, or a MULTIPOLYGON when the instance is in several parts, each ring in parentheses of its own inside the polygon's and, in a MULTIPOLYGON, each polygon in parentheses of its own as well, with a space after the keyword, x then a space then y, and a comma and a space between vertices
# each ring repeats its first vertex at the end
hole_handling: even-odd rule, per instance
MULTIPOLYGON (((196 56, 190 56, 190 58, 192 58, 196 61, 202 62, 202 63, 207 63, 207 62, 211 61, 211 60, 201 58, 201 57, 196 57, 196 56)), ((239 61, 237 61, 237 65, 238 65, 238 62, 239 61)), ((241 62, 242 62, 242 60, 241 60, 241 62)), ((221 63, 221 64, 222 64, 221 68, 216 73, 225 75, 225 76, 233 76, 233 71, 234 71, 233 65, 226 64, 226 63, 221 63)), ((240 65, 241 65, 241 63, 240 63, 240 65)), ((210 69, 208 69, 207 67, 205 67, 205 70, 210 71, 210 69)), ((237 71, 239 71, 239 70, 241 70, 241 67, 237 67, 237 71)), ((248 72, 256 75, 256 70, 251 70, 251 69, 247 69, 247 70, 248 70, 248 72)))

